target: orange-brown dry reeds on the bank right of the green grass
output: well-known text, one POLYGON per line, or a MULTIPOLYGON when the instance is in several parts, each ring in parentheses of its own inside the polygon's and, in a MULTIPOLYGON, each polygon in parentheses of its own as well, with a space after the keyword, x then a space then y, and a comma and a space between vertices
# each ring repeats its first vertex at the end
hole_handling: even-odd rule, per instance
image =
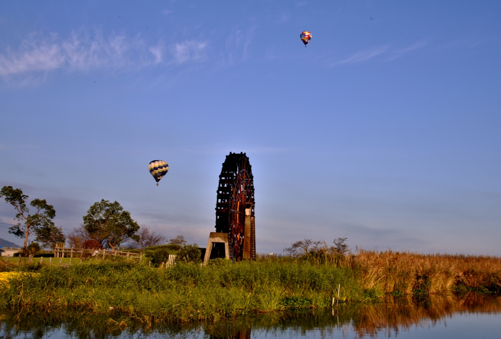
POLYGON ((501 291, 501 258, 359 250, 352 267, 360 286, 388 293, 440 293, 450 290, 501 291))

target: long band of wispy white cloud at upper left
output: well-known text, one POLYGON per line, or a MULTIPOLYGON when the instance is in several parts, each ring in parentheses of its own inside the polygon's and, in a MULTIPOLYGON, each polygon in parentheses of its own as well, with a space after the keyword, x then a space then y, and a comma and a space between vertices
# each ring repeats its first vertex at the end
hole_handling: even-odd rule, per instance
POLYGON ((147 66, 186 63, 205 59, 207 42, 189 40, 165 47, 162 41, 149 44, 136 37, 114 34, 105 37, 100 31, 72 32, 61 39, 56 34, 31 35, 17 49, 0 53, 0 78, 20 82, 43 81, 56 70, 87 72, 108 68, 135 71, 147 66), (169 53, 170 52, 170 53, 169 53))

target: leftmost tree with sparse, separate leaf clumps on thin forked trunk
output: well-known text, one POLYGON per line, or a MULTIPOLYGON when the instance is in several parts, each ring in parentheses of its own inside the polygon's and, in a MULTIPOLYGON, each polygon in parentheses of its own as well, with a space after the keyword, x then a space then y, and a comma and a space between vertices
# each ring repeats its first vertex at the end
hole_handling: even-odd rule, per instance
POLYGON ((18 211, 16 220, 17 225, 9 227, 9 233, 19 238, 25 238, 23 252, 26 253, 26 245, 30 235, 37 233, 41 228, 54 227, 52 219, 56 216, 56 210, 52 205, 47 204, 45 199, 33 199, 30 203, 37 212, 30 214, 30 209, 26 206, 28 195, 23 194, 20 188, 14 189, 12 186, 4 186, 0 190, 0 197, 5 198, 18 211))

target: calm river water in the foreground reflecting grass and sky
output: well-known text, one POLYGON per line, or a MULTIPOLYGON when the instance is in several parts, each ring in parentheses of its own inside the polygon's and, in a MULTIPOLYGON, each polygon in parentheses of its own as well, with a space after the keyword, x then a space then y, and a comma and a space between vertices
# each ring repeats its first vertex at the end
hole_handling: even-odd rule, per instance
POLYGON ((108 338, 501 338, 501 296, 468 293, 426 298, 388 297, 340 304, 323 312, 288 312, 233 321, 144 327, 109 316, 37 312, 0 314, 5 339, 108 338))

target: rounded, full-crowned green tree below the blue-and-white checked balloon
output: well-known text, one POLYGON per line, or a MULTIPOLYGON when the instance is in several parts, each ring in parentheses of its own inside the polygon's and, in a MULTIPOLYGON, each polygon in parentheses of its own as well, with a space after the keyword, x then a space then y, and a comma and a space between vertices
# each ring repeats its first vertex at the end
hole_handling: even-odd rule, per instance
POLYGON ((83 218, 85 230, 91 238, 100 241, 103 248, 115 250, 115 246, 121 243, 139 240, 139 236, 135 234, 139 225, 117 201, 102 199, 94 203, 83 218))

